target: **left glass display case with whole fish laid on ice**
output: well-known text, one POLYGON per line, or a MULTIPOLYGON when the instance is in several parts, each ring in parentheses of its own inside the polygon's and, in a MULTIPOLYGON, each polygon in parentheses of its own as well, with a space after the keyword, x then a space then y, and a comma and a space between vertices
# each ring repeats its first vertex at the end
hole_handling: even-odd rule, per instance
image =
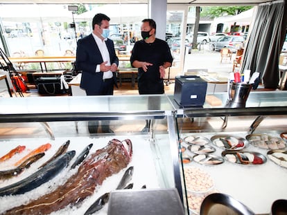
POLYGON ((0 103, 0 214, 107 214, 110 192, 119 189, 174 189, 183 208, 166 95, 0 103))

